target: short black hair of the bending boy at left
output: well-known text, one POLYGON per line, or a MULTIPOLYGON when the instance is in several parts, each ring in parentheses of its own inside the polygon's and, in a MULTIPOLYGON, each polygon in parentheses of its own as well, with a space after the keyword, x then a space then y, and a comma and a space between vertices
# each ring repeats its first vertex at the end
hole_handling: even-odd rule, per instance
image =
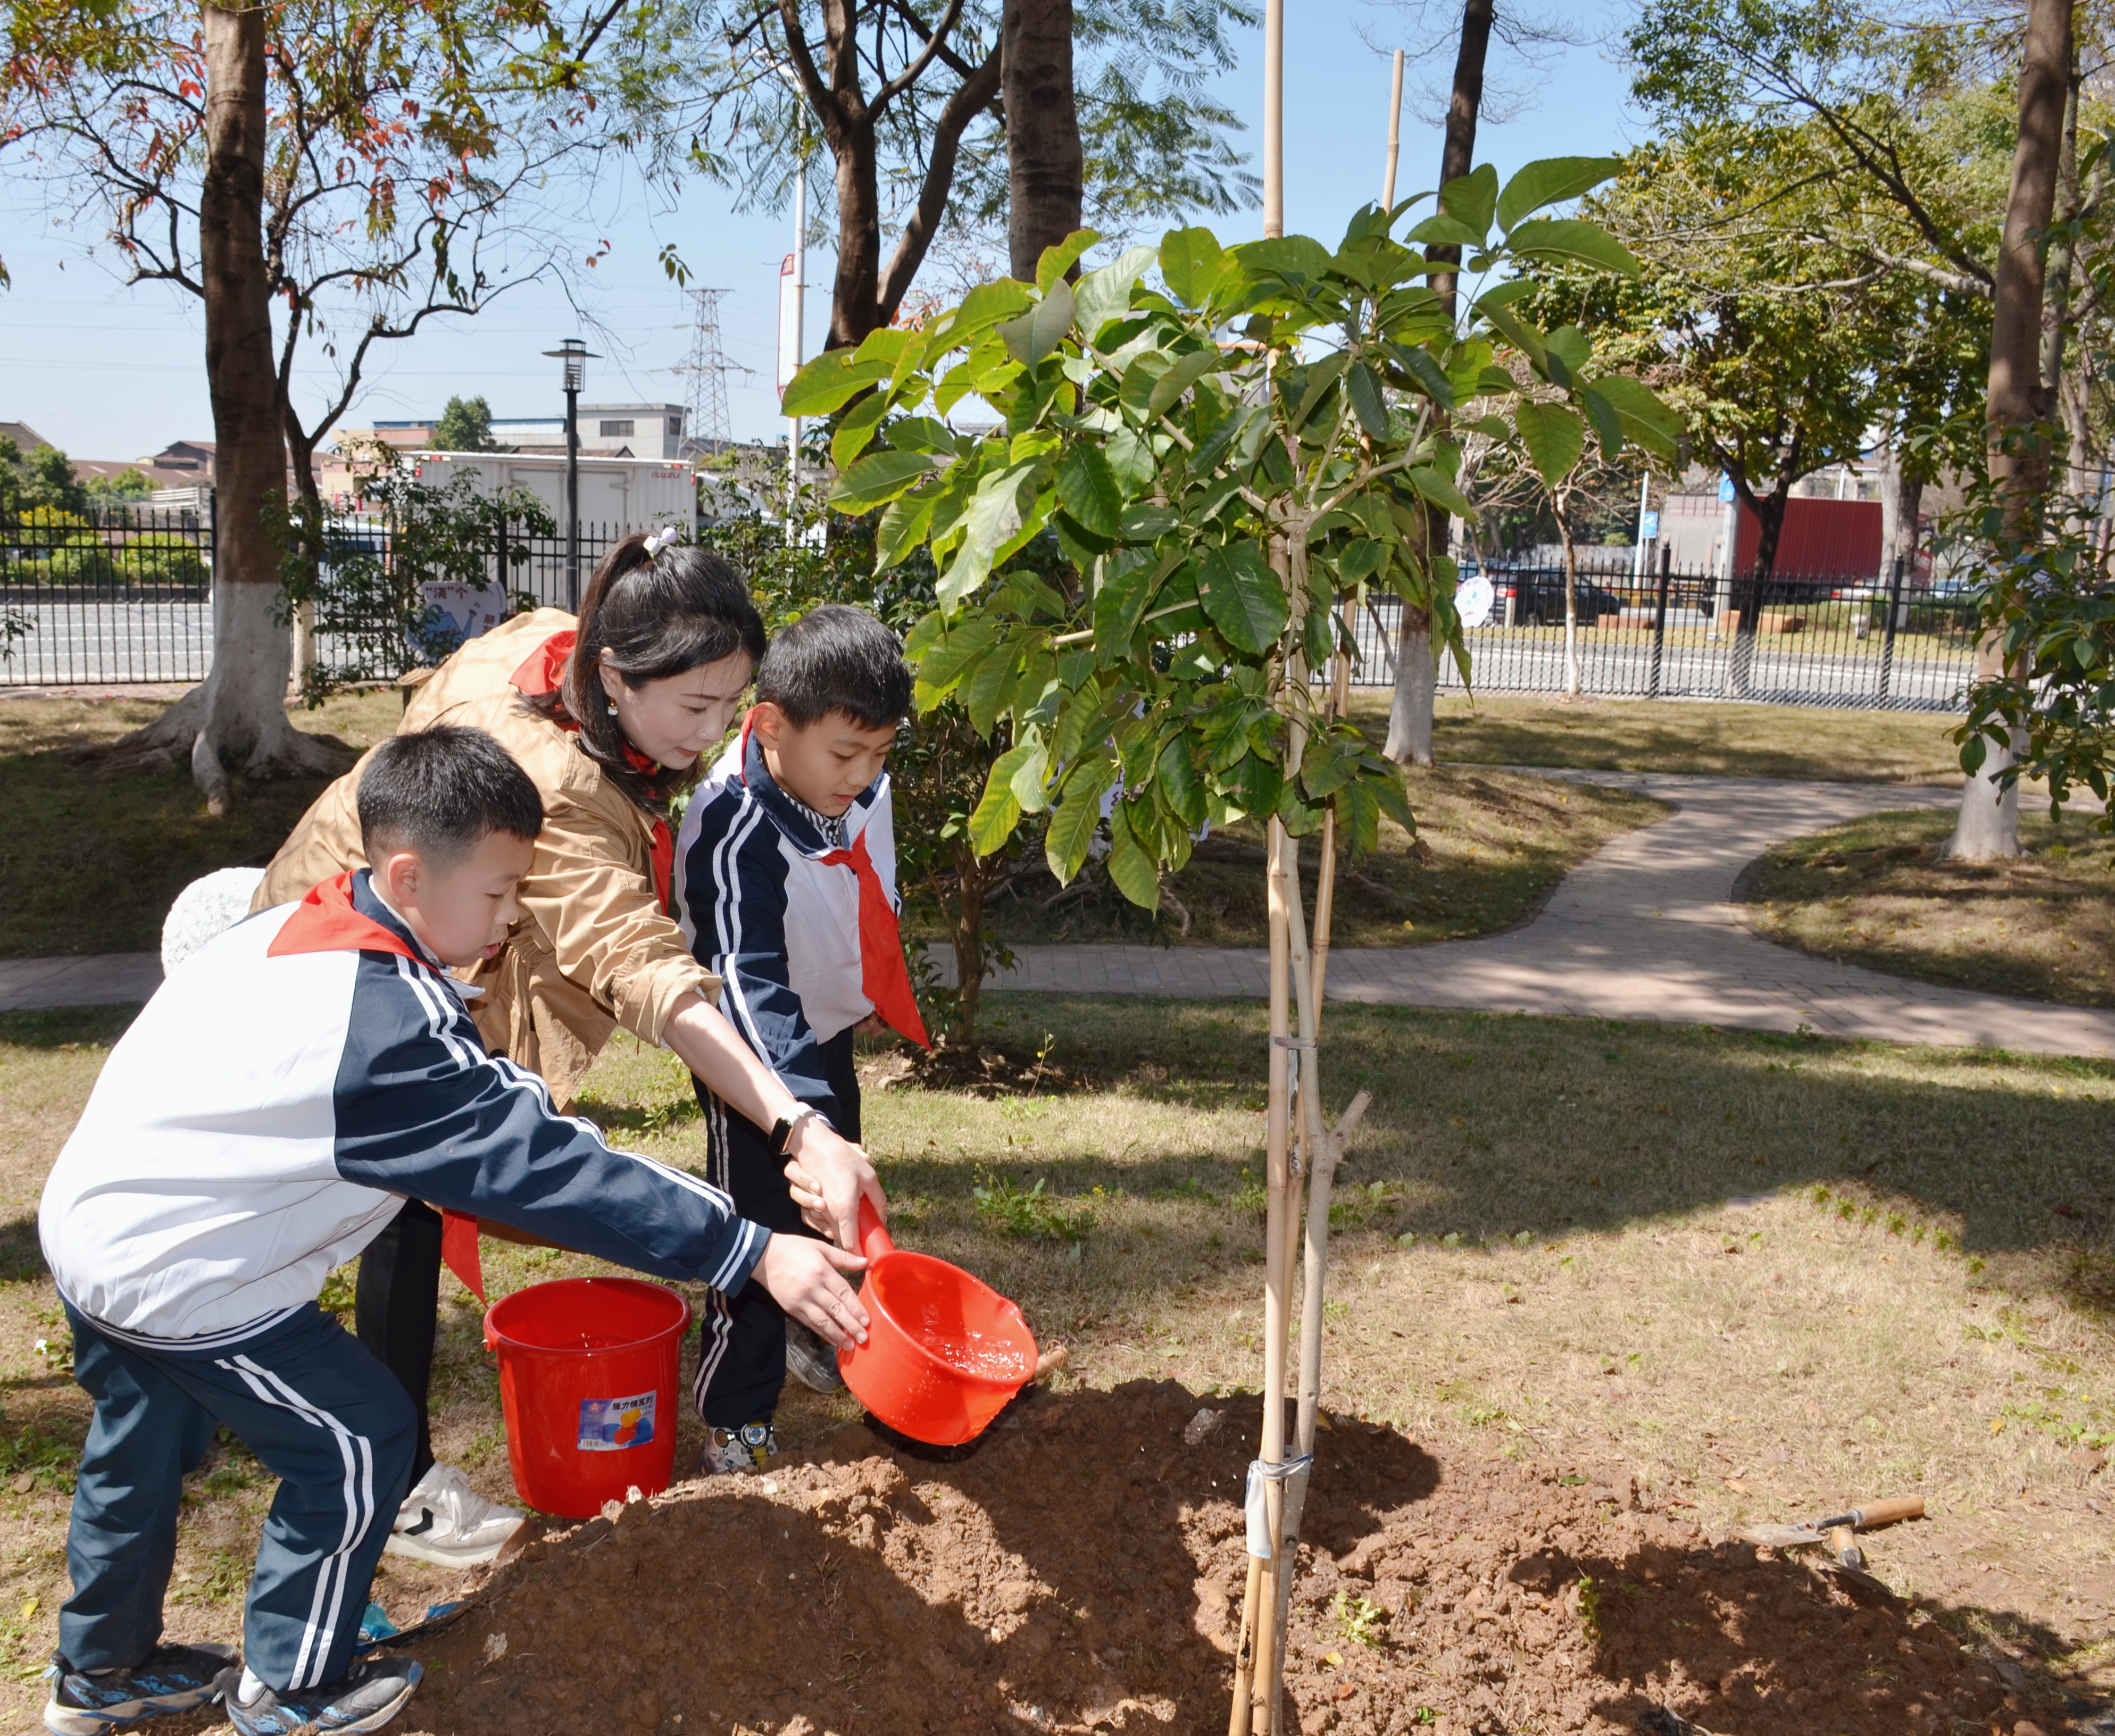
POLYGON ((360 774, 360 848, 368 861, 417 850, 446 873, 489 833, 535 837, 544 797, 529 774, 482 730, 436 723, 391 736, 360 774))

